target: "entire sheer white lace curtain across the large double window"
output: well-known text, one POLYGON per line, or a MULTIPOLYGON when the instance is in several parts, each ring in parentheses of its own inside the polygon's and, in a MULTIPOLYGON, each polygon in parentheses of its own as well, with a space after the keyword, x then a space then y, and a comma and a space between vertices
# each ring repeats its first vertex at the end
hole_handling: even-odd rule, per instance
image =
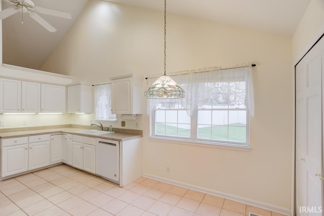
MULTIPOLYGON (((151 109, 185 108, 189 116, 200 108, 248 109, 254 116, 254 94, 251 66, 221 69, 219 67, 198 71, 182 71, 172 78, 186 92, 183 99, 149 99, 151 109)), ((156 80, 149 78, 148 87, 156 80)))

